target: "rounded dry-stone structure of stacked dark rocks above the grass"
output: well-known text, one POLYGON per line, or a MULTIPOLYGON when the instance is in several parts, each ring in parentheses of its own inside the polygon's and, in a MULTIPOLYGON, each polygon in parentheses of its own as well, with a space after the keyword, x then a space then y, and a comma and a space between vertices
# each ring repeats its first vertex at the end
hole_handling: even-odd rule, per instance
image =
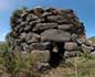
POLYGON ((9 41, 17 51, 46 51, 48 56, 51 44, 54 44, 52 52, 57 53, 55 44, 61 43, 67 57, 82 52, 83 44, 88 45, 84 24, 71 9, 38 7, 17 10, 11 16, 11 30, 9 41))

